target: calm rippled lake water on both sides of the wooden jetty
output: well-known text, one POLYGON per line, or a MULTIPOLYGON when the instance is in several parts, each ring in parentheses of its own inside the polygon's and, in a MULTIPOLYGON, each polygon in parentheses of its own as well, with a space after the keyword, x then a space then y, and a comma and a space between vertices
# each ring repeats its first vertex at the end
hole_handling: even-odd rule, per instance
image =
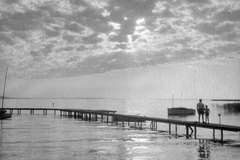
MULTIPOLYGON (((198 100, 175 100, 174 106, 196 108, 198 100)), ((240 113, 224 103, 203 100, 211 110, 210 123, 239 126, 240 113)), ((197 115, 168 117, 167 108, 172 100, 147 99, 8 99, 5 107, 49 107, 109 109, 117 113, 159 118, 197 121, 197 115), (53 106, 54 103, 54 106, 53 106)), ((158 131, 150 124, 143 129, 122 127, 100 121, 83 121, 42 111, 16 111, 11 119, 0 121, 0 159, 239 159, 240 134, 224 132, 224 144, 214 143, 212 130, 199 129, 197 139, 184 137, 185 127, 178 126, 178 136, 168 134, 168 125, 158 123, 158 131)), ((174 133, 175 126, 172 126, 174 133)), ((220 131, 216 131, 220 138, 220 131)))

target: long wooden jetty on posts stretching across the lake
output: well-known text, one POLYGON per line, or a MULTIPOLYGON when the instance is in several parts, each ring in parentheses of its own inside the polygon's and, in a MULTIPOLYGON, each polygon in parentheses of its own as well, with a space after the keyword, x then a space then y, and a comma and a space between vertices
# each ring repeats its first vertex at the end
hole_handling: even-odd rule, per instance
POLYGON ((17 111, 17 114, 21 114, 22 110, 30 111, 30 114, 34 114, 35 111, 42 111, 44 115, 47 115, 48 111, 53 111, 54 115, 56 112, 60 112, 60 116, 73 116, 75 118, 81 118, 83 120, 97 121, 100 118, 101 122, 115 123, 118 125, 119 122, 122 126, 128 124, 130 126, 131 122, 134 122, 134 126, 137 124, 140 129, 142 129, 142 123, 149 121, 150 129, 157 131, 157 123, 167 123, 169 124, 169 134, 172 134, 171 125, 175 125, 175 134, 177 135, 177 126, 186 127, 186 138, 191 137, 194 134, 195 139, 197 138, 197 128, 207 128, 213 130, 213 140, 215 140, 215 131, 221 131, 221 142, 223 142, 223 131, 240 132, 240 126, 225 125, 225 124, 215 124, 215 123, 198 123, 193 121, 182 121, 166 118, 156 118, 156 117, 146 117, 146 116, 136 116, 136 115, 125 115, 116 114, 117 111, 114 110, 90 110, 90 109, 59 109, 59 108, 4 108, 13 112, 17 111), (191 131, 191 132, 190 132, 191 131))

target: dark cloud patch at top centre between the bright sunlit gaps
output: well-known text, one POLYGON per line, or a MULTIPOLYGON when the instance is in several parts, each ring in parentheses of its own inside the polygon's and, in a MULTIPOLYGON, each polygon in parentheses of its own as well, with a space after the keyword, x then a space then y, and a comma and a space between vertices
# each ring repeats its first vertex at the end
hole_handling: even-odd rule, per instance
MULTIPOLYGON (((140 18, 148 21, 149 17, 155 14, 152 12, 154 5, 155 1, 111 1, 108 7, 110 20, 121 24, 121 28, 110 40, 127 42, 127 36, 135 31, 136 21, 140 18)), ((151 23, 151 21, 148 22, 151 23)))

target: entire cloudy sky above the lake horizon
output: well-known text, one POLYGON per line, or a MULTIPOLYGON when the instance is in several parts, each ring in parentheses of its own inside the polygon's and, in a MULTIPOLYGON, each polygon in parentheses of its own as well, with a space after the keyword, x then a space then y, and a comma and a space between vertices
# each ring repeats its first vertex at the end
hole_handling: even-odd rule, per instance
POLYGON ((2 0, 6 96, 240 99, 239 0, 2 0))

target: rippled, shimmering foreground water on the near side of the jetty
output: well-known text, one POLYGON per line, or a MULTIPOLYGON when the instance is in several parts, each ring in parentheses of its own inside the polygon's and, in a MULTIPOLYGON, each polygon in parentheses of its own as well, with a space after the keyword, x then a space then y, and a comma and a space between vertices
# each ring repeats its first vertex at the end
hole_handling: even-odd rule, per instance
MULTIPOLYGON (((235 149, 236 148, 236 149, 235 149)), ((54 115, 14 115, 0 126, 0 159, 203 159, 239 153, 206 139, 54 115)), ((231 156, 233 155, 233 156, 231 156)))

